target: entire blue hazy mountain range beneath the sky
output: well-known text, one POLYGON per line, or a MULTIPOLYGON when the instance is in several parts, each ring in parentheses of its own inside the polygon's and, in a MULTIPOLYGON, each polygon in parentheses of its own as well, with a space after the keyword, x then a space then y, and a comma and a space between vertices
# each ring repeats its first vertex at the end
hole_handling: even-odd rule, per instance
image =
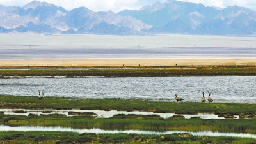
POLYGON ((40 1, 23 7, 0 5, 0 33, 44 34, 207 34, 252 35, 256 11, 239 6, 216 8, 169 0, 140 10, 94 12, 40 1))

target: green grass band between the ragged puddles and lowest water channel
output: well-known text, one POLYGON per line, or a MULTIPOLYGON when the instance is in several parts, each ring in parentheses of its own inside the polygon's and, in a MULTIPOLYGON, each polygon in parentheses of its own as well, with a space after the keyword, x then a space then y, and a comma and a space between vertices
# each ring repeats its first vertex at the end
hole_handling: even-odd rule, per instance
POLYGON ((218 131, 223 133, 252 133, 256 134, 255 119, 184 119, 182 117, 150 117, 141 115, 114 115, 109 119, 95 117, 65 115, 4 115, 0 113, 0 124, 8 126, 60 126, 76 129, 106 129, 129 130, 140 129, 145 131, 218 131))

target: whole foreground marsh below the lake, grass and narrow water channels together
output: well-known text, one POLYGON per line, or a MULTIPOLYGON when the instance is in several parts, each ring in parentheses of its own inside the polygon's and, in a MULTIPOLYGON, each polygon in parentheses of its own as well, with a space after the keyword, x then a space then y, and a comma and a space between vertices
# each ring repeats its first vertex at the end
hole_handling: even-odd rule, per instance
POLYGON ((9 141, 9 143, 27 140, 68 143, 69 139, 74 143, 93 143, 93 141, 101 141, 101 143, 148 143, 148 141, 152 143, 174 141, 180 141, 180 143, 181 141, 183 143, 203 143, 204 141, 244 143, 246 141, 246 143, 253 143, 255 141, 255 104, 174 103, 63 97, 38 99, 38 97, 31 96, 0 96, 0 99, 2 129, 0 140, 9 141), (12 109, 4 110, 4 108, 12 109), (115 115, 109 115, 108 119, 95 117, 96 113, 100 116, 104 110, 106 113, 114 110, 115 115), (10 112, 17 115, 12 115, 10 112), (49 115, 37 115, 38 113, 33 112, 49 113, 49 115), (170 112, 176 115, 168 115, 170 112), (81 114, 67 117, 67 113, 81 114), (205 113, 205 115, 215 113, 219 117, 239 115, 239 118, 200 119, 196 117, 196 113, 205 113), (161 114, 165 116, 160 117, 161 114), (192 114, 195 117, 186 119, 184 114, 192 114), (243 115, 248 117, 240 117, 243 115), (12 134, 9 134, 10 132, 12 134), (136 138, 127 139, 135 136, 134 134, 136 138))

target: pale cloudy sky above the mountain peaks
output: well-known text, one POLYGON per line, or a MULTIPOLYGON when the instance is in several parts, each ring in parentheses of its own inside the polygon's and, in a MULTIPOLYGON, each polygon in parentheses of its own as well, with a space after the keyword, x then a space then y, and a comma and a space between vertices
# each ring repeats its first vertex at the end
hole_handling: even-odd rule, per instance
MULTIPOLYGON (((0 4, 4 6, 24 6, 32 0, 0 0, 0 4)), ((114 11, 121 10, 137 10, 142 6, 153 4, 156 1, 163 0, 38 0, 45 1, 47 3, 55 4, 56 6, 62 6, 67 10, 84 6, 93 11, 114 11)), ((256 10, 256 0, 178 0, 187 1, 192 3, 202 3, 205 6, 218 6, 226 8, 227 6, 243 6, 256 10)))

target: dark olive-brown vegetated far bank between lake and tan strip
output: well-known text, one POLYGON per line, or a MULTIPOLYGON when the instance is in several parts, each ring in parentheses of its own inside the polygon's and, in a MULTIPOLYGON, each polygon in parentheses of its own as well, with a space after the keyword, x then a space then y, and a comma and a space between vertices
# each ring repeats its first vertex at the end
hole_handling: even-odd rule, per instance
POLYGON ((1 70, 1 78, 8 76, 255 76, 256 66, 169 66, 151 68, 105 69, 31 69, 1 70))

